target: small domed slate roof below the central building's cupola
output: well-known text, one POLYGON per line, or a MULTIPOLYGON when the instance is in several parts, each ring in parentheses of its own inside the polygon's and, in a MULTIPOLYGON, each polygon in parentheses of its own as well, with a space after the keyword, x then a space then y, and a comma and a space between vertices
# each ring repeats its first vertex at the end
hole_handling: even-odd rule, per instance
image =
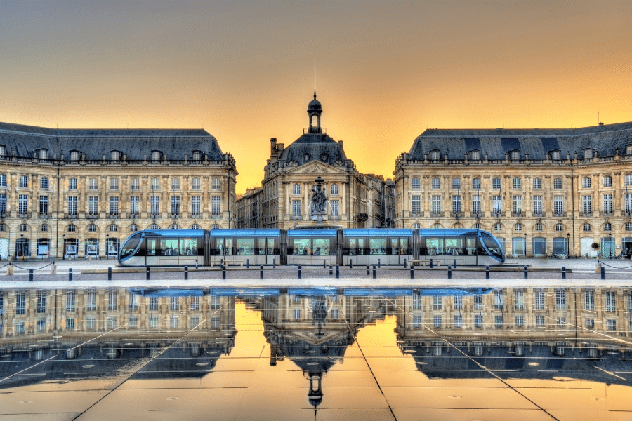
POLYGON ((345 151, 336 140, 324 133, 307 133, 285 148, 279 161, 296 161, 298 164, 321 161, 331 165, 346 160, 345 151))

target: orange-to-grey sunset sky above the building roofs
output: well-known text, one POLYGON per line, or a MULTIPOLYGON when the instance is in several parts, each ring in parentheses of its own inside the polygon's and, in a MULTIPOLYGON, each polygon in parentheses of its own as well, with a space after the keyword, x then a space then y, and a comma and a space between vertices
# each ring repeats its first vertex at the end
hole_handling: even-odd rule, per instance
POLYGON ((1 1, 0 121, 202 128, 261 184, 322 126, 392 177, 426 128, 632 121, 632 1, 1 1))

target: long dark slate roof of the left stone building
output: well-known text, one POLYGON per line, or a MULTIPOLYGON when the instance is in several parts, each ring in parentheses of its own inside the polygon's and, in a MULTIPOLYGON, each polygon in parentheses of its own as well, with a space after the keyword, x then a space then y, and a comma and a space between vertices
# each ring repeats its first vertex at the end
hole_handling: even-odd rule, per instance
POLYGON ((86 155, 86 160, 110 159, 113 150, 126 154, 126 159, 151 158, 153 150, 166 154, 167 159, 191 159, 193 151, 208 156, 209 161, 222 161, 223 152, 216 138, 203 129, 57 129, 23 126, 0 122, 0 145, 6 154, 15 150, 17 156, 32 157, 36 149, 48 149, 48 159, 57 156, 70 158, 75 150, 86 155))

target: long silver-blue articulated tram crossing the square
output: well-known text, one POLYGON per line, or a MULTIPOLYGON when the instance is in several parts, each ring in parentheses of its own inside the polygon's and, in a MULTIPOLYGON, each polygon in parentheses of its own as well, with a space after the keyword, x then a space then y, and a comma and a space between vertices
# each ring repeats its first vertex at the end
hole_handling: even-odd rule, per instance
POLYGON ((480 229, 147 229, 119 250, 120 266, 502 265, 499 241, 480 229))

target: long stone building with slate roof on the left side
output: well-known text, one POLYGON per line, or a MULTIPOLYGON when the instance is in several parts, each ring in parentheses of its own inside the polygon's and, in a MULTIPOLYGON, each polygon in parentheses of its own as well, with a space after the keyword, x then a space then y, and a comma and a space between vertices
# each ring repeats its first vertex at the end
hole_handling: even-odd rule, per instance
POLYGON ((236 175, 204 130, 0 123, 0 256, 103 257, 139 229, 235 227, 236 175))

